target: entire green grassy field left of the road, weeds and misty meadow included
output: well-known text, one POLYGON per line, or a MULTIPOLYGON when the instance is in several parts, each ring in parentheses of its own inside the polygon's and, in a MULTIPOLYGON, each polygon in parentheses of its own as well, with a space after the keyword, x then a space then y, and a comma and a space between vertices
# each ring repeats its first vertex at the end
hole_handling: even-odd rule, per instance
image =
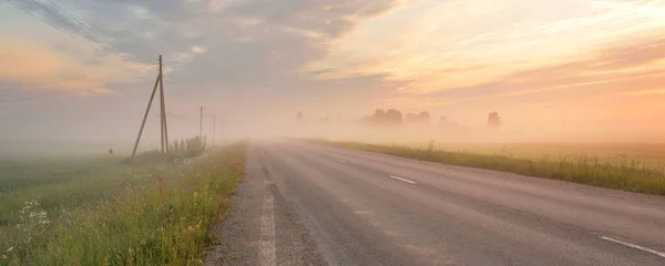
POLYGON ((0 265, 196 265, 244 145, 177 162, 0 162, 0 265))

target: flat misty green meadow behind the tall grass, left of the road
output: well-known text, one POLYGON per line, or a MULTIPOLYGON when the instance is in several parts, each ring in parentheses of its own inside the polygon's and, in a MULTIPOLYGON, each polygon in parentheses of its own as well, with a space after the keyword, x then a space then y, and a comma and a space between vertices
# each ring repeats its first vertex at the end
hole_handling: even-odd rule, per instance
POLYGON ((0 232, 3 226, 17 224, 17 213, 28 201, 37 200, 42 209, 58 215, 63 208, 111 198, 126 185, 166 168, 164 163, 122 161, 109 156, 1 162, 0 232))

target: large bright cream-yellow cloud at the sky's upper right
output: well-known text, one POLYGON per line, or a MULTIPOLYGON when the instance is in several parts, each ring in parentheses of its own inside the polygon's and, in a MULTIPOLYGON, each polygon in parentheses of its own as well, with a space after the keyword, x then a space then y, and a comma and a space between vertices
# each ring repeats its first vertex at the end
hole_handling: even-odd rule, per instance
POLYGON ((402 92, 429 94, 583 60, 608 43, 653 38, 665 24, 654 16, 665 3, 598 2, 413 1, 336 40, 309 70, 326 70, 326 79, 387 74, 412 81, 402 92))

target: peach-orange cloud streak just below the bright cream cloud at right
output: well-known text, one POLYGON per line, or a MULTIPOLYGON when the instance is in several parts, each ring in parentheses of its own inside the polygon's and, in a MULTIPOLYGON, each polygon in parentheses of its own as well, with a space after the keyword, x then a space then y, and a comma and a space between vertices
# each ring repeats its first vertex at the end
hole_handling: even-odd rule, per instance
MULTIPOLYGON (((463 105, 501 110, 533 102, 555 104, 617 93, 661 95, 665 83, 663 68, 665 39, 647 38, 631 45, 606 48, 565 63, 524 70, 479 84, 423 94, 402 91, 396 95, 400 99, 396 103, 407 108, 463 105)), ((617 102, 621 101, 615 100, 611 105, 617 102)))

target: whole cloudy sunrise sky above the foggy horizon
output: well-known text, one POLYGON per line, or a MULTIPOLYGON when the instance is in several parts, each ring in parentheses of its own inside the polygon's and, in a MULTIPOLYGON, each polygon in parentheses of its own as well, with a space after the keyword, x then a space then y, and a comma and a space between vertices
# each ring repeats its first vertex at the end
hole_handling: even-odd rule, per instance
POLYGON ((207 134, 396 108, 658 135, 663 32, 665 0, 8 0, 0 140, 133 139, 158 54, 176 137, 200 106, 207 134))

